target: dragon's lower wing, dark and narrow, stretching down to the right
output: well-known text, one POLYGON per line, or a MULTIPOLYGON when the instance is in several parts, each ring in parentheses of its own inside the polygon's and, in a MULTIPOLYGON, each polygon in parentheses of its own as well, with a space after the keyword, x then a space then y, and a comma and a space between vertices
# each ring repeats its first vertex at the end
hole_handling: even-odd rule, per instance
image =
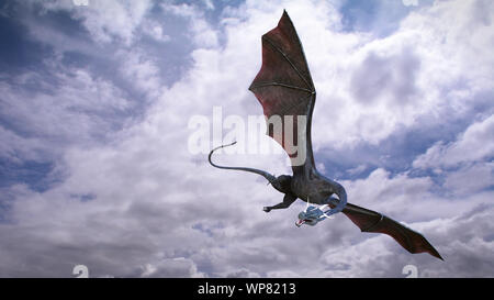
MULTIPOLYGON (((335 203, 329 203, 335 207, 335 203)), ((347 203, 341 211, 348 219, 351 220, 362 232, 384 233, 392 236, 402 247, 409 253, 426 252, 439 259, 442 259, 440 254, 433 245, 416 231, 413 231, 391 218, 382 213, 368 210, 351 203, 347 203)), ((444 259, 442 259, 444 260, 444 259)))

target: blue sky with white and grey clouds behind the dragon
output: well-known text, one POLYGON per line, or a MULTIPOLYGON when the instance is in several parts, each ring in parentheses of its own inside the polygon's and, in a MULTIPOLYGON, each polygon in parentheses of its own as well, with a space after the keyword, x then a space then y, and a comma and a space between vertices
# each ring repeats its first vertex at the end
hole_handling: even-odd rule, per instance
MULTIPOLYGON (((2 1, 0 276, 494 276, 494 2, 2 1), (260 36, 283 9, 317 102, 318 169, 348 201, 422 232, 408 254, 337 214, 296 229, 301 201, 191 151, 247 123, 260 36)), ((246 129, 247 131, 247 129, 246 129)), ((263 135, 238 147, 274 142, 263 135)), ((289 173, 281 153, 217 162, 289 173)))

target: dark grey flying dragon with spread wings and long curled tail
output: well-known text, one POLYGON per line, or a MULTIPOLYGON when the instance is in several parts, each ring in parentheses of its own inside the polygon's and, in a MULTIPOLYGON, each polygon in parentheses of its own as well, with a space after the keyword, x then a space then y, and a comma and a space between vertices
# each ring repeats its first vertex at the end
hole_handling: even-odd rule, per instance
POLYGON ((267 134, 274 138, 290 156, 293 175, 273 176, 265 170, 248 167, 227 167, 211 160, 221 169, 244 170, 265 177, 278 191, 284 193, 283 201, 265 207, 263 211, 287 209, 296 199, 307 202, 305 211, 299 214, 297 226, 315 225, 332 214, 343 212, 362 232, 384 233, 392 236, 409 253, 429 253, 442 259, 434 246, 415 232, 386 215, 347 202, 345 188, 317 171, 312 151, 311 123, 316 91, 308 65, 295 27, 283 11, 278 26, 262 35, 262 65, 249 90, 262 105, 267 120, 267 134), (278 119, 276 119, 278 116, 278 119), (271 121, 270 121, 271 120, 271 121), (272 120, 281 122, 281 134, 274 130, 272 120), (293 145, 297 151, 293 151, 293 145), (334 196, 337 196, 334 197, 334 196), (322 205, 316 208, 308 204, 322 205), (324 208, 330 208, 323 211, 324 208))

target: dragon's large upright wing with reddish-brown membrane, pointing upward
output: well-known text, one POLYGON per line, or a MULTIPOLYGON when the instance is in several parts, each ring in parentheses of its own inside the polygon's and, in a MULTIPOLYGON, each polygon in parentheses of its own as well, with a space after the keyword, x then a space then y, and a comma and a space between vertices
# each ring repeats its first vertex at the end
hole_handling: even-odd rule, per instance
POLYGON ((262 67, 249 90, 262 104, 267 134, 289 154, 293 171, 301 169, 300 166, 314 167, 311 121, 315 88, 302 44, 287 11, 278 26, 262 35, 262 67), (292 147, 294 145, 297 151, 292 147))

